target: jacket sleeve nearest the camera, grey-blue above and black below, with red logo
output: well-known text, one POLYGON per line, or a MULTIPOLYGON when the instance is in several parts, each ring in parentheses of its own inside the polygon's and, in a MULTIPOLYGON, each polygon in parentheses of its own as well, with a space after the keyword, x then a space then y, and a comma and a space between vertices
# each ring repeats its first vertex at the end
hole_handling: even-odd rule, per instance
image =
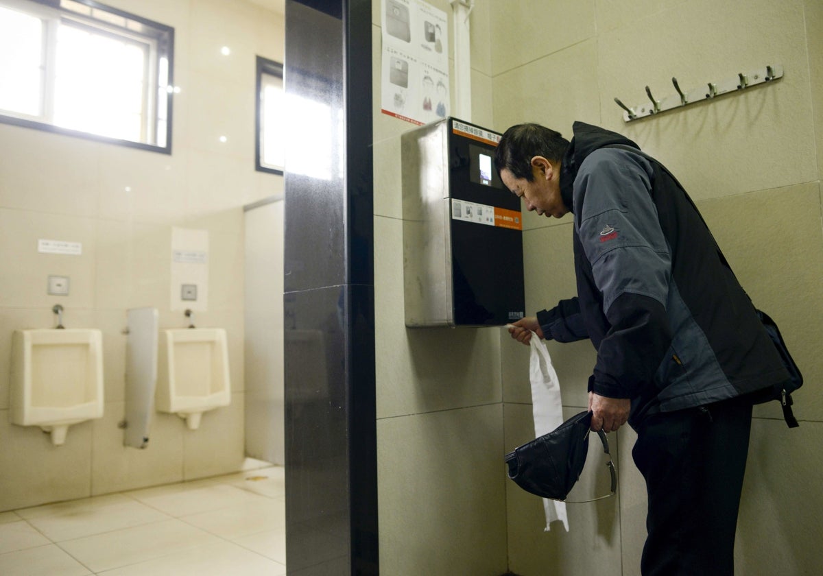
POLYGON ((672 263, 651 197, 649 161, 601 149, 575 179, 579 238, 602 294, 609 329, 597 346, 590 389, 635 397, 653 385, 672 341, 666 303, 672 263))

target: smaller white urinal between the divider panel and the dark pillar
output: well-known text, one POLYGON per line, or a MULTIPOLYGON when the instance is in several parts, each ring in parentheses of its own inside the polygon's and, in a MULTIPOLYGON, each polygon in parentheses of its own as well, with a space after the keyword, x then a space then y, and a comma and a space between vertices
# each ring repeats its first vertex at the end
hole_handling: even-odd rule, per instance
POLYGON ((197 430, 202 413, 231 403, 229 351, 222 328, 160 331, 155 406, 197 430))

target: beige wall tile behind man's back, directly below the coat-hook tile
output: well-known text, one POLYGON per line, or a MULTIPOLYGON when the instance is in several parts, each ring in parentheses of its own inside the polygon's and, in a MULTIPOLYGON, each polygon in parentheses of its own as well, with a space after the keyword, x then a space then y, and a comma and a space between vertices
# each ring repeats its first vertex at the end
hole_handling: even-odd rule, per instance
MULTIPOLYGON (((806 380, 795 396, 795 416, 823 420, 823 230, 817 183, 763 190, 700 202, 713 230, 755 305, 778 323, 806 380)), ((776 402, 758 416, 781 417, 776 402)))

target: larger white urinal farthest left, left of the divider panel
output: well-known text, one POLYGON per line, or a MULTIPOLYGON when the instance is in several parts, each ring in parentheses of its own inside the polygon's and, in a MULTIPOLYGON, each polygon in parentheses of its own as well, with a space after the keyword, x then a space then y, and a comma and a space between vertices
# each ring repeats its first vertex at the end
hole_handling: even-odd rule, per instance
POLYGON ((100 330, 17 330, 11 364, 12 424, 40 426, 59 446, 70 425, 103 416, 100 330))

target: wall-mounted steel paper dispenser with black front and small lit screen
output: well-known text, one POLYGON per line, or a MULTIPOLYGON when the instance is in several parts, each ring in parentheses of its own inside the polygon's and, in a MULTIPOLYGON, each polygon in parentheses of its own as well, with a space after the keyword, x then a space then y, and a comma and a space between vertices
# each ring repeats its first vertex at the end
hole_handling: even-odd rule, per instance
POLYGON ((456 118, 401 137, 408 327, 523 318, 520 204, 492 167, 499 140, 456 118))

